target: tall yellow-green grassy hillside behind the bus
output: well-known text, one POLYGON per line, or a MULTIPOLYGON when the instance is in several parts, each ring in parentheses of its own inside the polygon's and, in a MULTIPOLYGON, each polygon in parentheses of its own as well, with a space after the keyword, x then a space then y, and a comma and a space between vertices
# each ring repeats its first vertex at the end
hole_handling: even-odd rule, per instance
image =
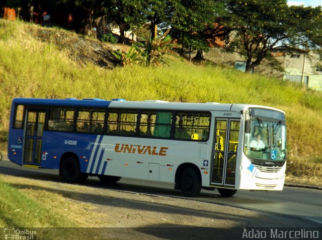
MULTIPOLYGON (((48 30, 0 20, 2 151, 6 149, 9 109, 14 97, 251 103, 286 112, 288 175, 315 182, 322 178, 320 92, 256 74, 180 61, 170 66, 127 66, 113 70, 92 63, 80 64, 70 50, 75 42, 66 41, 65 47, 61 47, 54 35, 48 41, 40 40, 39 35, 34 34, 40 31, 48 30)), ((76 36, 62 30, 50 31, 55 31, 57 36, 76 36)))

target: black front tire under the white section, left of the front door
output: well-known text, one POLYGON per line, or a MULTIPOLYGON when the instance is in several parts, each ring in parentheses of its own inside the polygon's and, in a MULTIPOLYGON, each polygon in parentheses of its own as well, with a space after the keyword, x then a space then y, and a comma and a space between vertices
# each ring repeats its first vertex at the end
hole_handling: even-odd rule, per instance
POLYGON ((180 188, 186 197, 196 197, 199 195, 201 179, 195 169, 188 167, 183 170, 180 177, 180 188))

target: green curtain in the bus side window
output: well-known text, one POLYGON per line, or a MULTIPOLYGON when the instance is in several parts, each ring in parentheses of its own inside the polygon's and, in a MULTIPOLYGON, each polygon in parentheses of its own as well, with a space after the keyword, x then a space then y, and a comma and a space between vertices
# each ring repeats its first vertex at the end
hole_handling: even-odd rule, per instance
POLYGON ((169 138, 171 132, 172 112, 157 112, 153 136, 169 138))

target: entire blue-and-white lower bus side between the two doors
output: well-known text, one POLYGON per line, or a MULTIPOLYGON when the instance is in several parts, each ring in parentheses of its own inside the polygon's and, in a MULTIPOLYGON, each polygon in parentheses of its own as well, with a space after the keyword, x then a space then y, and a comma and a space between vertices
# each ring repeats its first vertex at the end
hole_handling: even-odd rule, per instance
POLYGON ((70 152, 81 172, 174 183, 178 166, 192 163, 205 169, 202 183, 209 186, 204 172, 209 171, 211 153, 201 152, 209 149, 190 141, 44 132, 41 166, 59 169, 62 155, 70 152))

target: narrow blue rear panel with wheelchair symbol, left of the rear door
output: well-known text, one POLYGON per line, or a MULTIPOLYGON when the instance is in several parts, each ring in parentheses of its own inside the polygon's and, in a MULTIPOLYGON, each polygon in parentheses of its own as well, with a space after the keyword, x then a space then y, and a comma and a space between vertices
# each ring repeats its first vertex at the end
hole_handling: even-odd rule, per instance
POLYGON ((8 139, 8 159, 19 165, 23 165, 23 136, 24 130, 10 129, 8 139))

